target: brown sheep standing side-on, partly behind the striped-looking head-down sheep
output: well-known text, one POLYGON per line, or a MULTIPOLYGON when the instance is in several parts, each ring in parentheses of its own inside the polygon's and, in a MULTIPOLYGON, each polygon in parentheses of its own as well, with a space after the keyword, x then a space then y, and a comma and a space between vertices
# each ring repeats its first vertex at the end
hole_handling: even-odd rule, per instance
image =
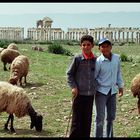
POLYGON ((14 49, 4 49, 1 52, 1 61, 3 62, 3 69, 4 71, 7 71, 6 64, 11 64, 12 61, 20 55, 20 52, 18 50, 14 49))

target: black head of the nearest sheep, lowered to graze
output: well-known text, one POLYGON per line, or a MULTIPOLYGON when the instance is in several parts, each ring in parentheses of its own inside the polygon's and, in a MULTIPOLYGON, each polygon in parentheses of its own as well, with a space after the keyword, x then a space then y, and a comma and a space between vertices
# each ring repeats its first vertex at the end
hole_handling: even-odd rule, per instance
POLYGON ((41 132, 42 131, 42 120, 43 117, 40 114, 35 114, 35 116, 31 117, 31 125, 30 128, 32 129, 35 127, 36 131, 41 132))

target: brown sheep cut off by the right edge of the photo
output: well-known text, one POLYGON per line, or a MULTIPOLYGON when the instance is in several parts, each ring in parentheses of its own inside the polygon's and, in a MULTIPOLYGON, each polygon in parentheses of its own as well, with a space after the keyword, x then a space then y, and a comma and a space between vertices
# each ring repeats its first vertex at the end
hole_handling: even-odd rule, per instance
POLYGON ((140 73, 137 74, 131 81, 131 92, 134 97, 138 98, 137 107, 140 114, 140 73))

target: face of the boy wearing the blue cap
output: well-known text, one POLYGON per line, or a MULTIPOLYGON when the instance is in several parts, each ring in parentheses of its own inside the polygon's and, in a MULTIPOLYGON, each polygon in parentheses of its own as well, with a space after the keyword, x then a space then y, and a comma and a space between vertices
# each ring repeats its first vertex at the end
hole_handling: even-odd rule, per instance
POLYGON ((108 56, 110 56, 112 46, 105 42, 100 45, 99 50, 104 56, 108 57, 108 56))

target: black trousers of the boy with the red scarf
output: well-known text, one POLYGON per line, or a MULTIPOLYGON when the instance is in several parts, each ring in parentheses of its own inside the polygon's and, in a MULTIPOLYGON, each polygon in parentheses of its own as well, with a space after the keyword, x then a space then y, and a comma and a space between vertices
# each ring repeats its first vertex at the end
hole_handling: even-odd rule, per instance
POLYGON ((72 104, 69 137, 90 137, 94 96, 77 95, 72 104))

